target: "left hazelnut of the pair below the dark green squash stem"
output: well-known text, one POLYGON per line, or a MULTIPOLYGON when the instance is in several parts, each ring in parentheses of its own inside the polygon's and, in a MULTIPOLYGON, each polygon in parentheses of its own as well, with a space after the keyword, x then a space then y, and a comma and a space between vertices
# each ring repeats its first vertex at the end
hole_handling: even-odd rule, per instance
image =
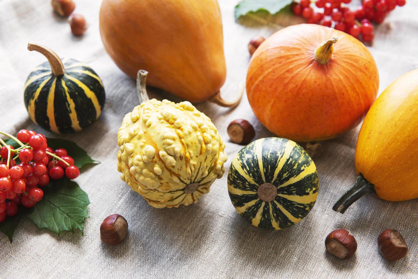
POLYGON ((356 252, 357 241, 349 231, 339 228, 325 238, 325 248, 340 259, 348 259, 356 252))

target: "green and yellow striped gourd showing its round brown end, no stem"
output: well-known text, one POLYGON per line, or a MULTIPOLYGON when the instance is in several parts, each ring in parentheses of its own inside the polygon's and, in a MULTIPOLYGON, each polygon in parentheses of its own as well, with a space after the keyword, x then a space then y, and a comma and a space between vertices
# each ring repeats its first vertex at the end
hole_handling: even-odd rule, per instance
POLYGON ((318 196, 319 178, 305 150, 268 137, 245 146, 232 160, 228 192, 236 211, 259 228, 280 230, 301 221, 318 196))

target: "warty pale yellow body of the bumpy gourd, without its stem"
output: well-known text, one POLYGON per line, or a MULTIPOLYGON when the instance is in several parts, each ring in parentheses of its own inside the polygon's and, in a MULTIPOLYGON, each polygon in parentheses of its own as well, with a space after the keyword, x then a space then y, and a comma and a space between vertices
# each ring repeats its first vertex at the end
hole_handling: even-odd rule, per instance
POLYGON ((143 102, 123 118, 117 143, 121 179, 155 208, 196 203, 225 172, 216 127, 188 101, 143 102))

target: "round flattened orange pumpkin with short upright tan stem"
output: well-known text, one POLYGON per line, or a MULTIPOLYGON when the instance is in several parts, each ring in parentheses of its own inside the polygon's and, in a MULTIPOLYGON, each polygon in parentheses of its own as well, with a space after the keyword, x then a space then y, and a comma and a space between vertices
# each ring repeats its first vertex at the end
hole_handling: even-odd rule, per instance
POLYGON ((302 142, 356 126, 378 86, 376 63, 360 41, 314 24, 274 33, 257 48, 247 72, 248 101, 260 122, 302 142))

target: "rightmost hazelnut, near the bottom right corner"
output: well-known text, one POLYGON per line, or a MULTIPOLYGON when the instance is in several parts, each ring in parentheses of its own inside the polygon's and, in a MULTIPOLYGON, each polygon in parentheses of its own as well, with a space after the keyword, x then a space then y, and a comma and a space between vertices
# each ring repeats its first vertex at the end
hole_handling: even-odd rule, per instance
POLYGON ((377 238, 377 243, 379 243, 380 254, 389 261, 402 259, 408 252, 405 238, 397 230, 382 231, 377 238))

